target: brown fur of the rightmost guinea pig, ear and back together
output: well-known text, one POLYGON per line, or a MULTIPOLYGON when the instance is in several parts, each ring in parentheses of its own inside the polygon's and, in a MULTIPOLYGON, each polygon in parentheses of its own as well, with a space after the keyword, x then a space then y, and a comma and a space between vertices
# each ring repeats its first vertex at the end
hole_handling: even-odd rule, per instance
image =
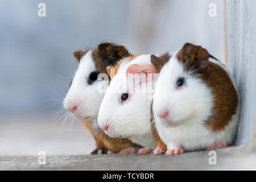
POLYGON ((177 59, 183 63, 185 71, 201 78, 212 91, 212 116, 205 121, 205 126, 217 132, 224 130, 236 114, 238 94, 228 73, 210 62, 209 57, 214 58, 207 50, 188 43, 177 53, 177 59))

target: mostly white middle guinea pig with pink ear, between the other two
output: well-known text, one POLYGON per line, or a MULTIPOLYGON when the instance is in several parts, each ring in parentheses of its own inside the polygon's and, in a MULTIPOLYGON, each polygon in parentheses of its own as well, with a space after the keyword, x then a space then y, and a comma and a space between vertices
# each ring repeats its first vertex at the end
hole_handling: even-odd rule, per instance
POLYGON ((151 152, 156 143, 150 123, 155 79, 150 55, 124 57, 107 70, 113 79, 101 102, 98 125, 110 137, 128 138, 145 147, 142 153, 151 152))

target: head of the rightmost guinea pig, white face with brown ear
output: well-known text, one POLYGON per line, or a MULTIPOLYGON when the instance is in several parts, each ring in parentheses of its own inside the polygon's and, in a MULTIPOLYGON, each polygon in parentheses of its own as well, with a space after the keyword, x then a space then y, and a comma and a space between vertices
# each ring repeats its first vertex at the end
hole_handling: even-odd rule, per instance
POLYGON ((209 57, 205 49, 187 43, 166 61, 154 93, 156 118, 166 125, 179 125, 208 117, 213 96, 201 75, 209 57))

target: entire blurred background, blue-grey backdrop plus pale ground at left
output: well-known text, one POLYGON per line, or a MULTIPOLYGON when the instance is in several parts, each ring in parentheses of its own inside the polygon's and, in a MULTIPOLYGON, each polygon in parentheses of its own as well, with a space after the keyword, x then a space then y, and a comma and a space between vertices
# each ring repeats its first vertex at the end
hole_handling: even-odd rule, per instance
POLYGON ((131 53, 199 44, 225 63, 224 1, 0 1, 0 155, 88 154, 81 123, 52 122, 77 68, 72 52, 100 42, 131 53), (38 4, 46 3, 46 17, 38 4), (216 3, 217 16, 208 15, 216 3), (53 105, 52 105, 53 104, 53 105))

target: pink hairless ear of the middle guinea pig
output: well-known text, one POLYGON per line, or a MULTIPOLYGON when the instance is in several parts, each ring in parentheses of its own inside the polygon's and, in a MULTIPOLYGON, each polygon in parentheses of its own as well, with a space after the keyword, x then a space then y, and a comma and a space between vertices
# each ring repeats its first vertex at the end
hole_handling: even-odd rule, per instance
POLYGON ((128 69, 127 69, 127 74, 128 73, 144 73, 144 74, 148 74, 148 73, 156 73, 155 67, 151 64, 144 64, 144 65, 138 65, 138 64, 133 64, 131 65, 128 69))

